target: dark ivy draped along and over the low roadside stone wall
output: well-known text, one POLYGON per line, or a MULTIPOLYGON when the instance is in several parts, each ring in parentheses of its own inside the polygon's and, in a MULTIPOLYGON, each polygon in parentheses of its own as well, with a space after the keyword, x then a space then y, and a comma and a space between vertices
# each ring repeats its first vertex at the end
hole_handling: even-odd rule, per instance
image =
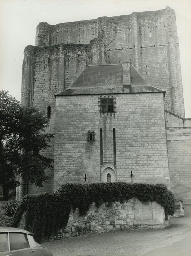
POLYGON ((92 202, 99 207, 102 203, 127 202, 133 197, 141 202, 156 201, 164 207, 166 219, 175 211, 174 196, 165 184, 68 183, 55 193, 24 196, 14 214, 12 226, 19 225, 25 212, 24 228, 34 233, 35 240, 40 242, 66 227, 72 209, 79 208, 80 214, 85 215, 92 202))

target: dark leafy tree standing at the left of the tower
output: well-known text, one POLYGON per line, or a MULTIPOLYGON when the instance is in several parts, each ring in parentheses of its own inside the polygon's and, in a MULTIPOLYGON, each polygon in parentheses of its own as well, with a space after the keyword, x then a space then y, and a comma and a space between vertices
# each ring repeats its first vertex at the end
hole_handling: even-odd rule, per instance
POLYGON ((20 185, 17 174, 38 187, 47 181, 45 169, 52 167, 53 161, 42 154, 53 138, 44 132, 47 126, 42 111, 20 106, 8 91, 0 90, 0 186, 4 200, 8 200, 10 189, 20 185))

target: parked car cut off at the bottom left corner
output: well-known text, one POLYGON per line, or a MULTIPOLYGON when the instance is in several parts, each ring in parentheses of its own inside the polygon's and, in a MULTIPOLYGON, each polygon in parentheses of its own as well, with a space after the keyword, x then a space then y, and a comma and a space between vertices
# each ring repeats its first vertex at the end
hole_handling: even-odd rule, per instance
POLYGON ((53 256, 34 241, 33 234, 16 227, 0 227, 0 256, 53 256))

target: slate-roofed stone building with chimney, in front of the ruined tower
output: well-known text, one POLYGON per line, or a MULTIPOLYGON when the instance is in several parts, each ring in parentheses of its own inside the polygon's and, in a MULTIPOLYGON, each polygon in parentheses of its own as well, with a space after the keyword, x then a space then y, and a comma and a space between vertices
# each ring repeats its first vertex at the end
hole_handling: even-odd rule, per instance
POLYGON ((131 171, 134 182, 169 185, 165 133, 164 91, 132 64, 86 67, 56 95, 54 190, 85 176, 131 182, 131 171))

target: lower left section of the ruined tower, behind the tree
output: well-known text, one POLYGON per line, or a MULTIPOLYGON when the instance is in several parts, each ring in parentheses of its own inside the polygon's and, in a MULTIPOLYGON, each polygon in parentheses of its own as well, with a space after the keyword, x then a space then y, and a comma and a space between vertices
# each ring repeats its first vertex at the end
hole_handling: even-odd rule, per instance
MULTIPOLYGON (((51 107, 49 127, 45 132, 54 133, 55 97, 68 88, 83 71, 86 64, 98 64, 104 61, 102 44, 95 39, 88 45, 56 45, 48 47, 27 46, 24 50, 21 103, 37 106, 47 112, 51 107)), ((54 139, 51 147, 43 153, 54 159, 54 139)), ((46 170, 50 177, 43 188, 28 186, 28 193, 53 190, 53 169, 46 170)))

